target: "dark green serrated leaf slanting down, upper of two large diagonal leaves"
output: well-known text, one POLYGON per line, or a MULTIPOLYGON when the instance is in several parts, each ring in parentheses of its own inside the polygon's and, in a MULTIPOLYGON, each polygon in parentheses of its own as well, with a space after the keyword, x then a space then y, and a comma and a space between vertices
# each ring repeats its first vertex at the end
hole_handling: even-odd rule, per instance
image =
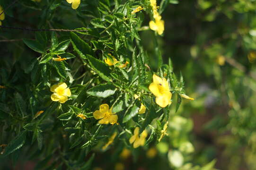
POLYGON ((93 51, 88 43, 79 38, 77 34, 71 32, 71 40, 74 50, 82 59, 86 59, 86 54, 93 55, 93 51))

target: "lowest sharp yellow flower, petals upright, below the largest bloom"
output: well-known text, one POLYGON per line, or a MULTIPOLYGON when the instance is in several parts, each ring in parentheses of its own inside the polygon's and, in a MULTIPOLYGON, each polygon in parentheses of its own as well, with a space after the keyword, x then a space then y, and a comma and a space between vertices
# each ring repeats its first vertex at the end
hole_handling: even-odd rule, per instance
POLYGON ((141 136, 139 136, 139 127, 136 127, 133 131, 133 136, 129 139, 130 144, 133 143, 133 147, 137 148, 139 146, 143 146, 146 141, 146 137, 148 136, 148 133, 146 130, 144 130, 141 133, 141 136))

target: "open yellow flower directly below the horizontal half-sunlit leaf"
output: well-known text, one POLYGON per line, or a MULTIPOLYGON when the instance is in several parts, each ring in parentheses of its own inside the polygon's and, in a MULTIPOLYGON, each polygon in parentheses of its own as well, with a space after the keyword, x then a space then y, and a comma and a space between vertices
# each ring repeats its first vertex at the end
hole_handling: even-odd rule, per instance
POLYGON ((95 119, 100 119, 99 124, 117 124, 117 115, 112 113, 112 108, 109 109, 108 104, 102 104, 99 106, 99 110, 94 111, 93 116, 95 119))

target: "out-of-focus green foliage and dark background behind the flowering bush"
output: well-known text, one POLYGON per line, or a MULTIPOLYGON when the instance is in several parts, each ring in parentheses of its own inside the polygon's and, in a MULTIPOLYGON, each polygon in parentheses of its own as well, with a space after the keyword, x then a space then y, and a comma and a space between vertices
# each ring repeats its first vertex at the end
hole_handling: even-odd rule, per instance
MULTIPOLYGON (((73 29, 85 24, 79 20, 85 11, 69 10, 64 0, 53 18, 44 18, 47 11, 27 1, 20 0, 5 11, 2 25, 37 28, 47 19, 53 28, 73 29)), ((161 14, 165 32, 157 41, 164 63, 172 60, 174 72, 181 72, 185 79, 186 94, 195 100, 183 100, 177 112, 173 104, 168 136, 159 144, 136 152, 123 149, 124 145, 114 145, 104 153, 95 150, 93 170, 255 170, 256 0, 168 2, 161 14)), ((42 0, 37 5, 44 4, 42 0)), ((138 15, 145 17, 142 26, 148 26, 148 15, 138 15)), ((156 69, 158 60, 151 41, 154 32, 139 33, 156 69)), ((0 66, 11 68, 17 60, 22 64, 39 55, 29 50, 22 38, 34 38, 34 34, 0 29, 1 40, 14 40, 0 41, 0 66)), ((38 161, 24 160, 18 161, 17 170, 34 169, 38 161)))

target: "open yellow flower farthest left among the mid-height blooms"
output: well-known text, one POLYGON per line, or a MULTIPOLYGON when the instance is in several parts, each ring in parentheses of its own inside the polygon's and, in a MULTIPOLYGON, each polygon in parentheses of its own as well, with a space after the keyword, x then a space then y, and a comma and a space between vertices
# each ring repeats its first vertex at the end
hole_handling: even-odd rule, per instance
POLYGON ((52 101, 60 103, 66 102, 68 100, 68 97, 71 96, 71 91, 67 87, 68 86, 66 85, 66 83, 59 83, 57 85, 53 85, 51 87, 51 92, 54 92, 51 95, 52 101))

